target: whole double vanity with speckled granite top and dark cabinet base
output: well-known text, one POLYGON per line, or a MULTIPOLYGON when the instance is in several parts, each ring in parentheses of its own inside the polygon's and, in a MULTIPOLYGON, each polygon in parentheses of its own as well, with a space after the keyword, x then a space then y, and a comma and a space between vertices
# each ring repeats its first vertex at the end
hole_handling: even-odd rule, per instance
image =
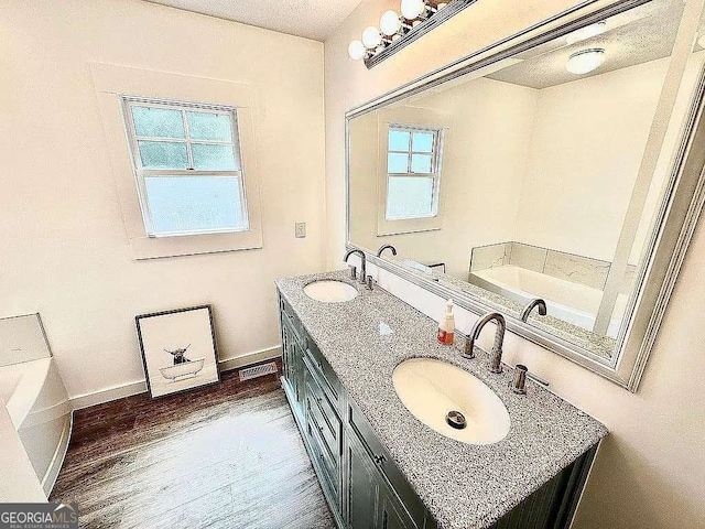
POLYGON ((476 358, 463 358, 458 337, 440 345, 436 322, 346 272, 276 287, 282 386, 339 527, 570 526, 607 434, 601 423, 532 381, 527 395, 513 393, 511 367, 491 374, 479 348, 476 358), (316 287, 330 280, 344 285, 333 298, 346 301, 319 301, 326 293, 316 287), (304 292, 311 284, 313 298, 304 292), (416 419, 392 380, 411 358, 475 377, 506 408, 506 436, 460 442, 416 419))

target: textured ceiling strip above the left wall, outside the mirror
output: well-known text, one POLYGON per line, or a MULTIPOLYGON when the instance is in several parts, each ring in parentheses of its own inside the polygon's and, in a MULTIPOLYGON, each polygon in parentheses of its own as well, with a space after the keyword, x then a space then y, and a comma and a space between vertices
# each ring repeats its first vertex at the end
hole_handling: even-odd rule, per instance
POLYGON ((267 30, 325 41, 361 0, 148 0, 267 30))

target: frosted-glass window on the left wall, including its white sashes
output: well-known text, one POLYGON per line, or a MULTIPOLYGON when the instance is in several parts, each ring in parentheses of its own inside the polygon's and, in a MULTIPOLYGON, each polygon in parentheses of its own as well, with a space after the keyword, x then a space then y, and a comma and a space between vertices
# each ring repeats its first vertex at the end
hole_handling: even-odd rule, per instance
POLYGON ((122 101, 147 235, 247 231, 236 109, 122 101))

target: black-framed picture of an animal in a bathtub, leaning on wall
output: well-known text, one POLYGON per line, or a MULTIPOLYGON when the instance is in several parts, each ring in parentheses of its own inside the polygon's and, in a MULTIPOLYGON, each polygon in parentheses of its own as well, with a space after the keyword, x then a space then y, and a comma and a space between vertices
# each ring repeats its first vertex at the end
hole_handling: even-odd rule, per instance
POLYGON ((153 399, 220 382, 210 305, 141 314, 134 323, 153 399))

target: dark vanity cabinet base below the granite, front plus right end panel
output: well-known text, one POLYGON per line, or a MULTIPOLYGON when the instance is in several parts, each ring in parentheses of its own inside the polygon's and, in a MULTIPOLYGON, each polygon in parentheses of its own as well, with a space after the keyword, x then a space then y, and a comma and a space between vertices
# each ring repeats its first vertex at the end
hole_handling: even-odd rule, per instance
MULTIPOLYGON (((341 387, 291 305, 280 296, 282 387, 338 527, 436 529, 419 496, 341 387)), ((567 528, 596 446, 494 528, 567 528)))

